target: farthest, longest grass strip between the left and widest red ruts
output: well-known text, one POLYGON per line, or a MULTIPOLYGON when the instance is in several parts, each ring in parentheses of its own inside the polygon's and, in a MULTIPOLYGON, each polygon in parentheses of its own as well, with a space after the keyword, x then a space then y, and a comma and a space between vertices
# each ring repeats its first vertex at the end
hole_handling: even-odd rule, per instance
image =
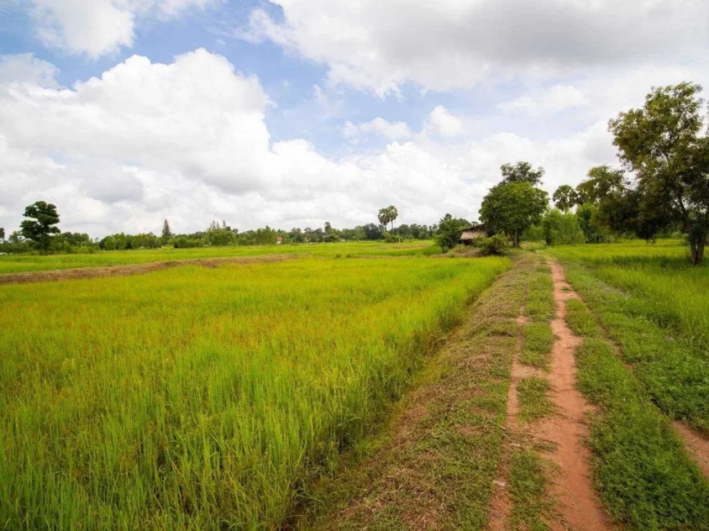
POLYGON ((537 264, 527 279, 525 316, 520 362, 547 370, 551 360, 554 333, 549 320, 554 316, 554 284, 548 265, 537 264))

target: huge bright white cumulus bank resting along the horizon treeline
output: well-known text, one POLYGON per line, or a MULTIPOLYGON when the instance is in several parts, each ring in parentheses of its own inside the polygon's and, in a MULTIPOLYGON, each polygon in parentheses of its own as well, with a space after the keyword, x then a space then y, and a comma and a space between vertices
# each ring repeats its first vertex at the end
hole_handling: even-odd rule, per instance
MULTIPOLYGON (((503 163, 544 166, 551 192, 615 159, 608 114, 558 138, 497 131, 473 139, 464 120, 442 106, 428 115, 422 134, 381 118, 347 122, 345 135, 372 133, 391 142, 324 156, 305 139, 273 142, 265 122, 273 104, 259 80, 201 49, 170 64, 133 56, 70 89, 57 85, 56 72, 32 55, 0 58, 0 225, 6 229, 17 227, 23 207, 40 199, 60 208, 62 229, 95 236, 157 232, 164 218, 177 231, 203 229, 211 219, 241 229, 325 220, 352 226, 374 221, 390 204, 401 222, 433 223, 445 212, 474 219, 503 163)), ((644 92, 624 91, 625 81, 618 76, 618 86, 603 90, 579 84, 589 99, 584 108, 605 113, 621 101, 642 103, 644 92)))

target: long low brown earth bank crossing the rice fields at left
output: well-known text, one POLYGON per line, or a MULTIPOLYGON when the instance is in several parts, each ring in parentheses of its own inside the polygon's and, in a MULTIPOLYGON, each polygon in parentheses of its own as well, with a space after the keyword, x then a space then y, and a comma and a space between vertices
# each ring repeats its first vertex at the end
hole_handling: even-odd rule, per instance
POLYGON ((30 273, 5 273, 0 275, 0 285, 28 284, 30 282, 57 282, 59 280, 83 280, 86 278, 115 277, 125 275, 143 275, 162 269, 177 268, 180 265, 201 265, 216 268, 225 263, 266 263, 281 262, 296 258, 296 254, 267 256, 242 256, 225 258, 191 258, 189 260, 171 260, 167 262, 136 263, 131 265, 111 265, 104 268, 60 269, 52 271, 32 271, 30 273))

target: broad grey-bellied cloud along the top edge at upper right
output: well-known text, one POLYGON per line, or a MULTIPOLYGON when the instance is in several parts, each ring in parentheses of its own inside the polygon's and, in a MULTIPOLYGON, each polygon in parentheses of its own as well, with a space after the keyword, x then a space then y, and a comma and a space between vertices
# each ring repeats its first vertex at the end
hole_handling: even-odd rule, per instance
POLYGON ((269 1, 282 18, 256 8, 242 38, 271 40, 324 64, 331 84, 379 96, 408 82, 446 91, 598 65, 700 62, 709 44, 705 0, 269 1))

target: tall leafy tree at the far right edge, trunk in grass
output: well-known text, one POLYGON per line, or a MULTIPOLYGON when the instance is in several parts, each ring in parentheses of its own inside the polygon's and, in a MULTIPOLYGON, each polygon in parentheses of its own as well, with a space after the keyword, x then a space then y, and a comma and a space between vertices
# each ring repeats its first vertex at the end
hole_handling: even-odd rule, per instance
POLYGON ((681 83, 652 89, 640 109, 610 120, 613 144, 635 173, 644 236, 679 224, 700 264, 709 233, 709 138, 701 135, 702 87, 681 83))

